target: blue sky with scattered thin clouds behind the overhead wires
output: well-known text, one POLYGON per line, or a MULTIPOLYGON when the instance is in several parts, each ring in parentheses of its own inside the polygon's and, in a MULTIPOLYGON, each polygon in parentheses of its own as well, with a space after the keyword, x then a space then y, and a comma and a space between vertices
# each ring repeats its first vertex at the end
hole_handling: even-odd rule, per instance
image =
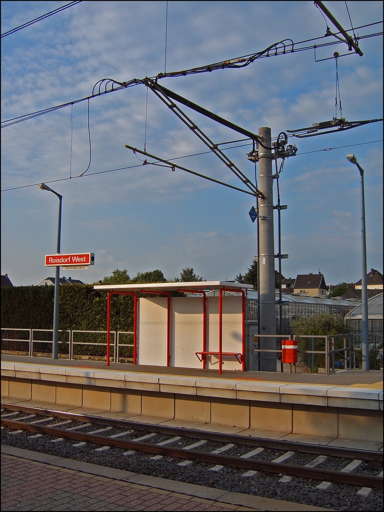
MULTIPOLYGON (((280 229, 274 210, 285 278, 361 279, 360 174, 346 158, 355 154, 364 169, 367 272, 383 272, 382 121, 297 137, 332 118, 382 118, 383 6, 323 4, 358 37, 362 55, 312 1, 2 2, 1 273, 14 286, 54 276, 45 255, 56 253, 59 201, 40 183, 62 196, 61 253, 95 253, 94 265, 61 267, 61 276, 92 284, 115 269, 131 278, 159 269, 173 280, 191 267, 206 281, 232 281, 247 272, 257 254, 255 197, 146 77, 296 146, 295 156, 272 162, 281 169, 274 204, 279 184, 287 205, 280 229), (242 67, 207 70, 250 55, 258 58, 242 67), (195 68, 202 72, 178 73, 195 68)), ((257 184, 250 138, 176 104, 257 184)))

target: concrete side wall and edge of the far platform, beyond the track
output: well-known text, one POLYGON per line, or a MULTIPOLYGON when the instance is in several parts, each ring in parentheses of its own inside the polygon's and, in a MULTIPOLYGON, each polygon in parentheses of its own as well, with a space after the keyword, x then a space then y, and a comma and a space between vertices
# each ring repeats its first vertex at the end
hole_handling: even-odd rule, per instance
POLYGON ((2 402, 346 447, 383 438, 382 392, 356 388, 29 365, 3 369, 2 402))

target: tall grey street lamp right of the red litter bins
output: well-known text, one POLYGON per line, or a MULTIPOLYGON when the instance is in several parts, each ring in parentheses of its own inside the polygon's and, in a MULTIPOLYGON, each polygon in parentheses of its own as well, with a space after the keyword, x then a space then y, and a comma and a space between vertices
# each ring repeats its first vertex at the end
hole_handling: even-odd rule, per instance
POLYGON ((368 292, 367 292, 367 243, 366 214, 364 201, 364 169, 358 164, 353 153, 347 160, 356 165, 360 173, 360 205, 361 205, 361 353, 362 369, 369 370, 369 333, 368 333, 368 292))

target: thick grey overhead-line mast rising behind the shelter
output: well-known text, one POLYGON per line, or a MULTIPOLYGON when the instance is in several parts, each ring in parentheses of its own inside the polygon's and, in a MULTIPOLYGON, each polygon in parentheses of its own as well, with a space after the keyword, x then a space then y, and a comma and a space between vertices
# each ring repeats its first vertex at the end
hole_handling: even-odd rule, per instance
POLYGON ((260 370, 275 372, 277 343, 271 129, 259 128, 259 137, 263 144, 259 144, 259 188, 264 194, 264 198, 259 199, 259 325, 260 334, 268 335, 260 337, 260 349, 272 351, 260 352, 260 370))

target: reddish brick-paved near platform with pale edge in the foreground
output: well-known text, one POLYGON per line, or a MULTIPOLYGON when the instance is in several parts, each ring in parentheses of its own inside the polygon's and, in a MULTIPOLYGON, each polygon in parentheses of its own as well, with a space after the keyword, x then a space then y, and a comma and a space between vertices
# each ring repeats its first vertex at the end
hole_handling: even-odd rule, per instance
POLYGON ((2 446, 1 510, 328 510, 2 446))

